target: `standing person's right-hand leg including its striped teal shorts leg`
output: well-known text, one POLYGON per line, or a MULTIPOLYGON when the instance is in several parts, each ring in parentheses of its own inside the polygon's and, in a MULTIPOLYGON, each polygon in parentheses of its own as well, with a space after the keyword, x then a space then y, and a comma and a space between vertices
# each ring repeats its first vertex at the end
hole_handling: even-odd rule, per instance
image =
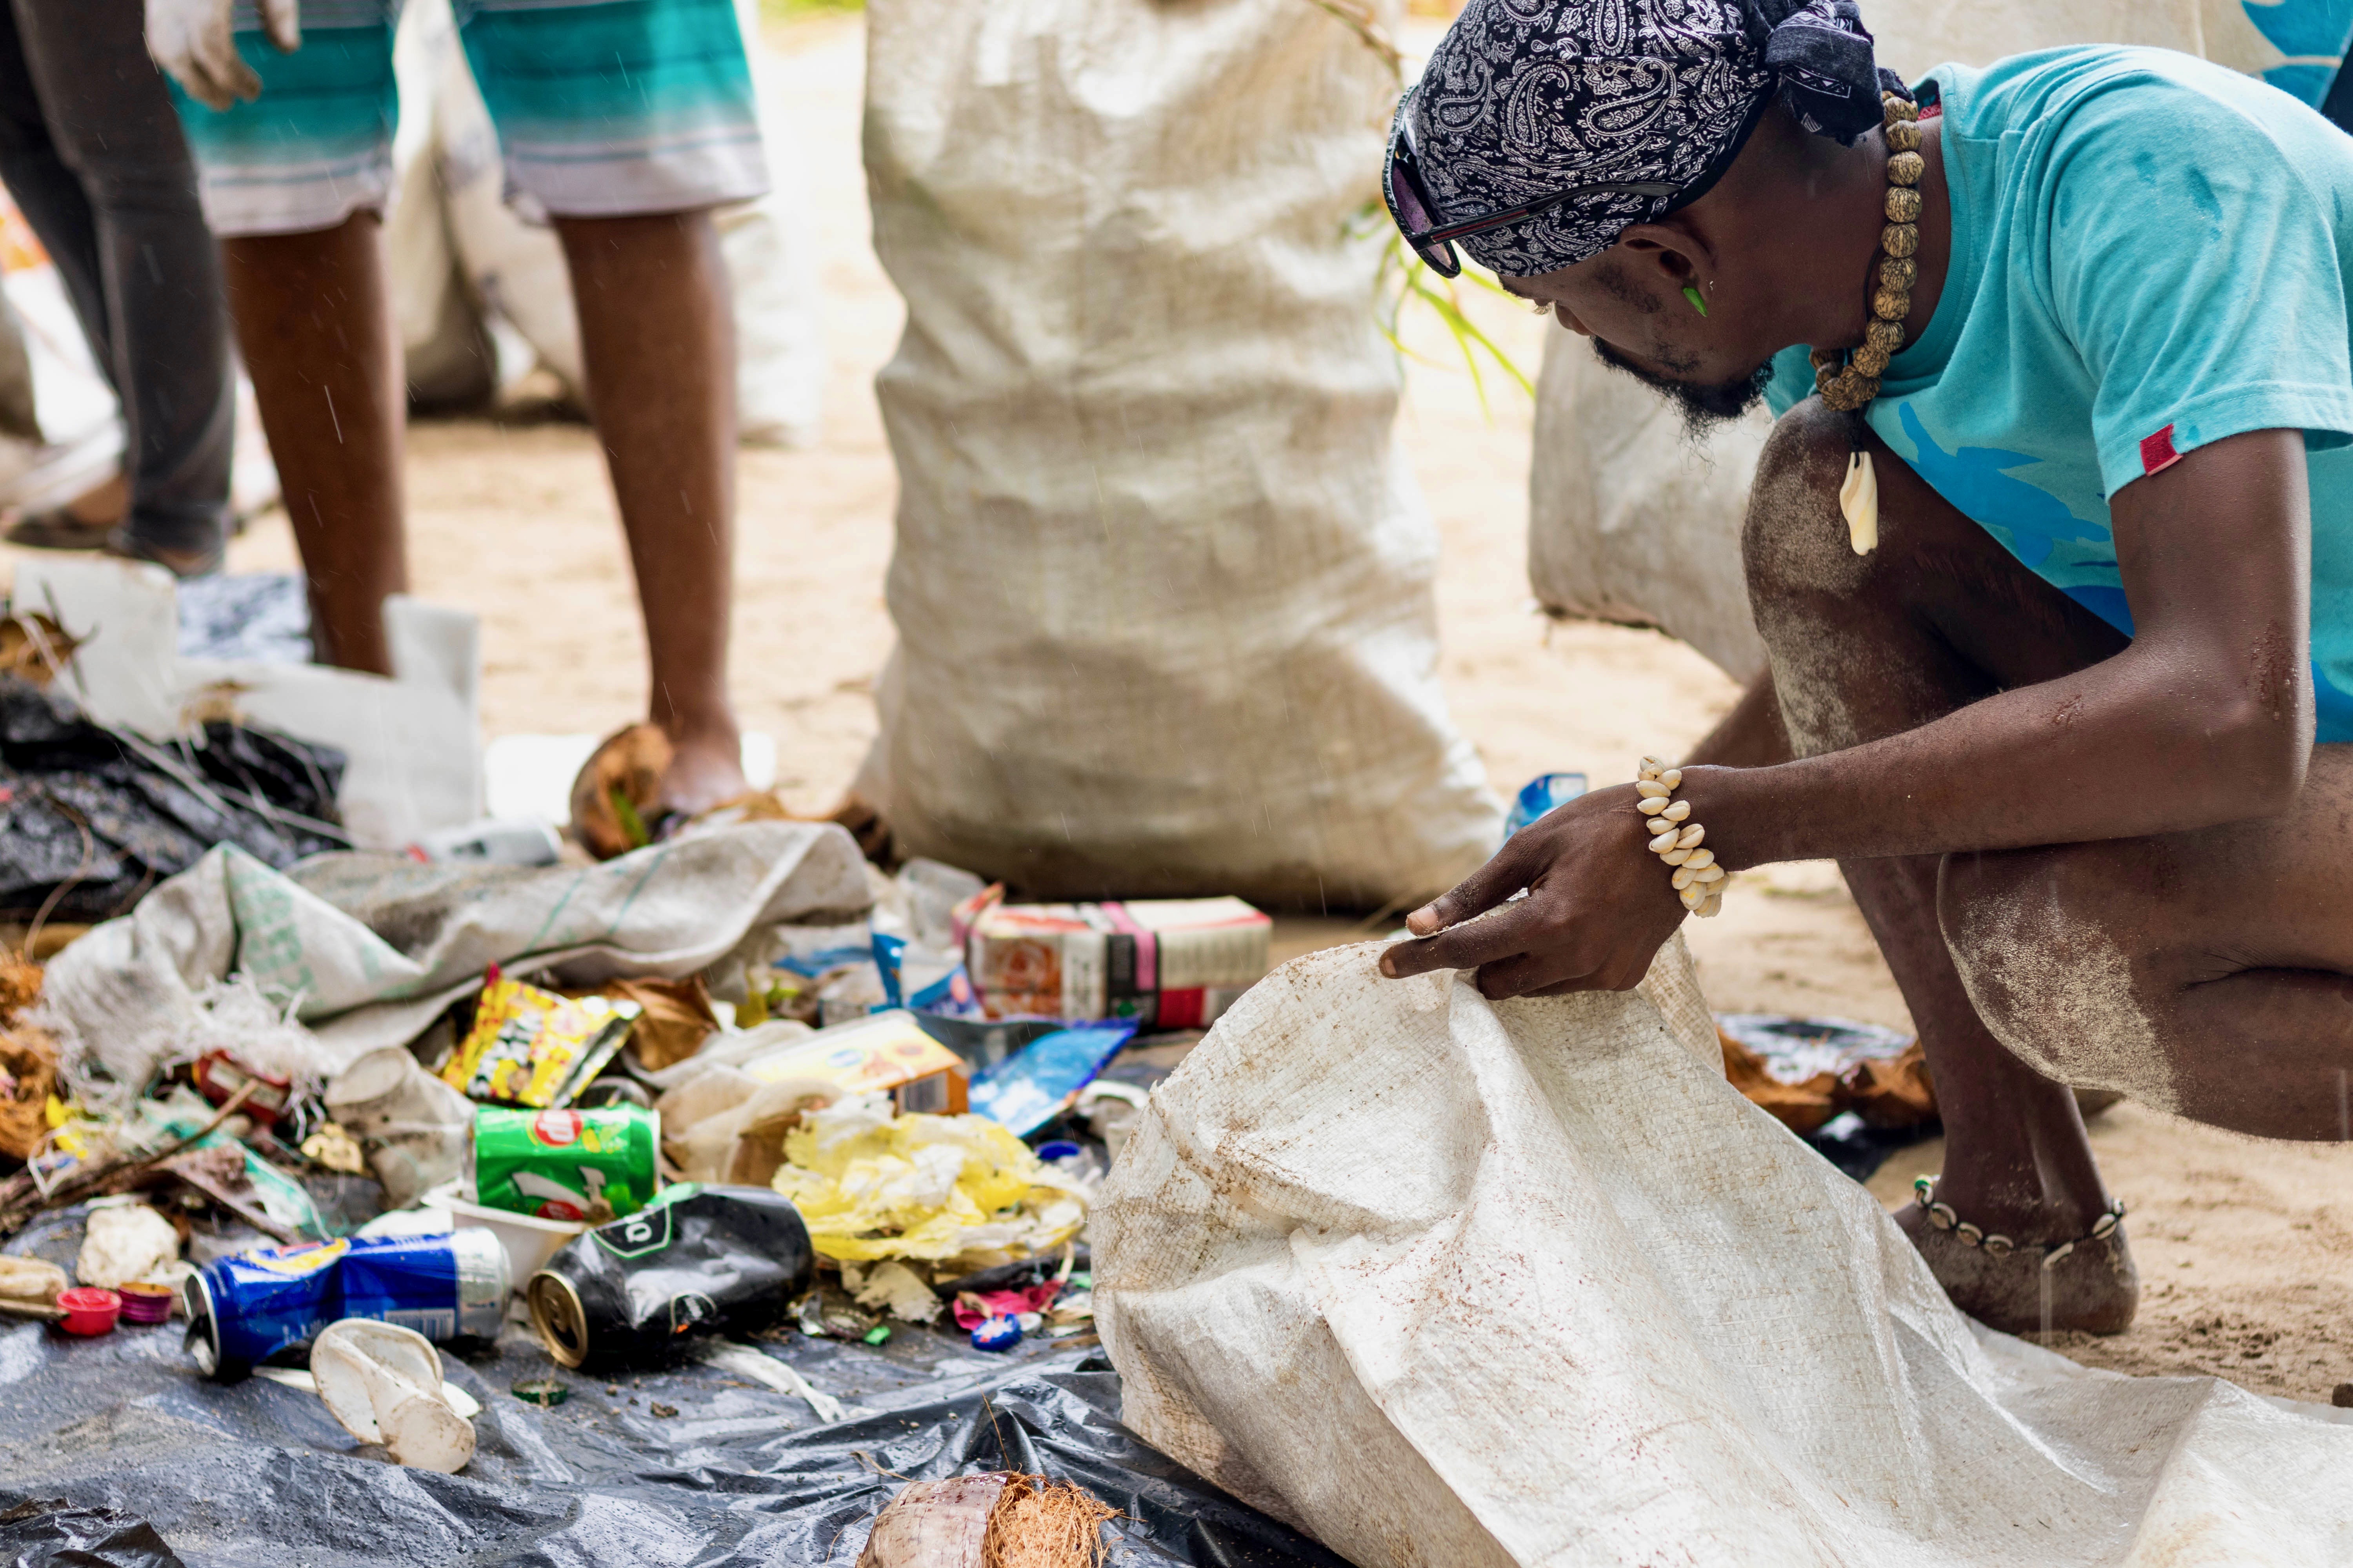
POLYGON ((727 703, 734 315, 711 207, 767 190, 732 0, 480 0, 466 59, 508 183, 553 214, 638 574, 664 804, 744 790, 727 703))

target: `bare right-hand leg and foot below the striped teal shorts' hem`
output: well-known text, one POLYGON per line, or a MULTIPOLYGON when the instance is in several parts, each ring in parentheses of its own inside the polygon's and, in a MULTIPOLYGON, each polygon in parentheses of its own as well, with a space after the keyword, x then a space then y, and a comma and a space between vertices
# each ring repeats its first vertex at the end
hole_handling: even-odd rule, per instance
POLYGON ((727 266, 708 212, 555 228, 638 574, 647 717, 673 748, 664 804, 696 811, 744 792, 744 741, 727 703, 736 440, 727 266))

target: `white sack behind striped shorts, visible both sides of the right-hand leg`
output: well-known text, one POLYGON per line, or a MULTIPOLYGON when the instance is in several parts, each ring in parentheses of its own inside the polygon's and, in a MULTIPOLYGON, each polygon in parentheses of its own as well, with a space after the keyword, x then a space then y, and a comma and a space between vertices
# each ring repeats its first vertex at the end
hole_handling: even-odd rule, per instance
MULTIPOLYGON (((816 240, 791 200, 793 139, 772 96, 758 7, 739 0, 736 21, 769 174, 784 186, 713 214, 734 306, 736 435, 755 447, 812 447, 826 393, 816 240)), ((562 242, 508 205, 499 132, 466 66, 449 0, 407 2, 395 63, 391 256, 412 381, 464 386, 464 360, 494 343, 501 386, 536 362, 586 402, 562 242)))

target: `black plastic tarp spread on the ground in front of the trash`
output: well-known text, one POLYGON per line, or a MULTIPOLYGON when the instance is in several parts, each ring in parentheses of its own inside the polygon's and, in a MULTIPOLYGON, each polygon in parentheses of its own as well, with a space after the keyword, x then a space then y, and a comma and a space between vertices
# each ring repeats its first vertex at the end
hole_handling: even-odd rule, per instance
MULTIPOLYGON (((78 1229, 49 1222, 7 1251, 71 1258, 78 1229)), ((176 1319, 96 1340, 16 1324, 0 1328, 0 1509, 111 1509, 80 1528, 151 1523, 188 1568, 814 1568, 854 1563, 904 1481, 1024 1469, 1115 1507, 1120 1566, 1339 1566, 1120 1427, 1118 1373, 1101 1352, 1026 1342, 995 1356, 918 1328, 882 1347, 798 1331, 755 1347, 856 1413, 821 1425, 807 1401, 701 1361, 616 1380, 562 1373, 508 1324, 494 1347, 442 1356, 482 1403, 473 1462, 442 1476, 360 1446, 311 1392, 200 1380, 176 1319), (569 1385, 565 1403, 513 1396, 515 1382, 548 1375, 569 1385)), ((0 1523, 0 1561, 16 1561, 31 1537, 14 1533, 49 1528, 45 1519, 61 1516, 0 1523)), ((125 1552, 59 1561, 167 1561, 125 1552)))

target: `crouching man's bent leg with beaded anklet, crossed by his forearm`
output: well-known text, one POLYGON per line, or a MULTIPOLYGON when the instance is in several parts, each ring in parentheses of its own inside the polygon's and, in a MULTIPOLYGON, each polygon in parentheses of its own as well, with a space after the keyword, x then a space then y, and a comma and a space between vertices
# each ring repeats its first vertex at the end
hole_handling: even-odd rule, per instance
MULTIPOLYGON (((1880 548, 1857 557, 1838 512, 1847 421, 1805 402, 1758 465, 1744 555, 1772 689, 1793 750, 1812 757, 1918 729, 2007 686, 2052 679, 2125 644, 2049 588, 1885 449, 1880 548)), ((1986 1232, 2082 1237, 2108 1206, 2068 1086, 2009 1053, 1962 987, 1937 917, 1939 856, 1840 870, 1920 1027, 1946 1168, 1937 1197, 1986 1232)), ((1899 1215, 1953 1302, 1998 1328, 2040 1326, 2038 1260, 1988 1258, 1918 1208, 1899 1215)), ((2139 1284, 2122 1232, 2049 1276, 2057 1328, 2115 1331, 2139 1284)))

